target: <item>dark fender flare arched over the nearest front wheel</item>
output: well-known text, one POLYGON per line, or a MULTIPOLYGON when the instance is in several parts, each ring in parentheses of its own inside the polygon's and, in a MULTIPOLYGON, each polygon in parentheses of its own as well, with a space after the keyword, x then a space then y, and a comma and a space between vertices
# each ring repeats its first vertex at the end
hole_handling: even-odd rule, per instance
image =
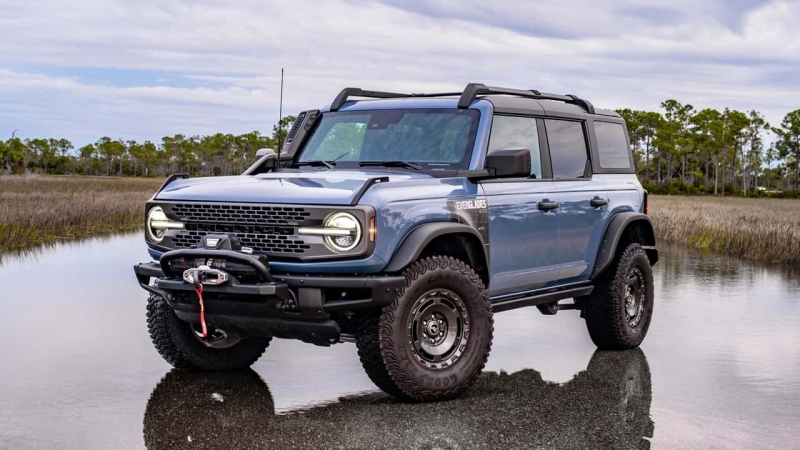
POLYGON ((434 239, 448 234, 470 234, 481 243, 481 252, 484 261, 488 264, 489 258, 486 254, 486 243, 483 241, 478 230, 469 225, 456 222, 430 222, 422 224, 411 230, 400 242, 394 252, 389 264, 384 268, 385 272, 400 272, 408 265, 416 261, 425 250, 425 247, 434 239))

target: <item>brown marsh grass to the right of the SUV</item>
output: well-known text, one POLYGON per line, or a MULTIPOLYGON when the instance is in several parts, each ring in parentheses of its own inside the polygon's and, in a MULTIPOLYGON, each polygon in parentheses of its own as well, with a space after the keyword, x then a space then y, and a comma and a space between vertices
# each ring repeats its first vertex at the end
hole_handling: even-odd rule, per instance
POLYGON ((800 200, 651 196, 650 217, 657 239, 800 264, 800 200))

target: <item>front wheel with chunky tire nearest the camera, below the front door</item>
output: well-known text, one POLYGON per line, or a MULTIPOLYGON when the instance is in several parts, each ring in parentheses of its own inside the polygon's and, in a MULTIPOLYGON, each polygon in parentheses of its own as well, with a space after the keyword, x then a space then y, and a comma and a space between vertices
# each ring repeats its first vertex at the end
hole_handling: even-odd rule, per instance
POLYGON ((356 344, 364 370, 399 399, 457 397, 489 357, 489 294, 475 271, 451 257, 422 259, 404 275, 394 302, 361 324, 356 344))

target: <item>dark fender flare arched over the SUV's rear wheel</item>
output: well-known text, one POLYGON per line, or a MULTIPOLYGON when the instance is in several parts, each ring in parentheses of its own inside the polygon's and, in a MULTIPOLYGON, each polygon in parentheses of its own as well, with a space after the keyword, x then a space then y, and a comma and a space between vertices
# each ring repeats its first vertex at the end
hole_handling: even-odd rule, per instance
POLYGON ((650 217, 645 214, 626 211, 621 212, 611 218, 603 234, 603 241, 600 243, 600 248, 597 251, 597 258, 595 258, 594 269, 590 279, 597 278, 614 260, 614 255, 617 251, 622 234, 628 225, 640 222, 643 227, 643 232, 640 232, 639 243, 644 247, 647 252, 647 257, 650 260, 650 265, 655 265, 658 262, 658 250, 656 249, 655 233, 653 232, 653 224, 650 222, 650 217))

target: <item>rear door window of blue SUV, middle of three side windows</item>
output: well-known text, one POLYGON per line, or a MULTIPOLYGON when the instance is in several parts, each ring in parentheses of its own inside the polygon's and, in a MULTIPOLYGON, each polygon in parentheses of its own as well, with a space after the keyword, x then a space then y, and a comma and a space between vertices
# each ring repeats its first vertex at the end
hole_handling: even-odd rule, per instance
POLYGON ((583 123, 546 119, 544 124, 553 178, 582 178, 589 161, 583 123))

